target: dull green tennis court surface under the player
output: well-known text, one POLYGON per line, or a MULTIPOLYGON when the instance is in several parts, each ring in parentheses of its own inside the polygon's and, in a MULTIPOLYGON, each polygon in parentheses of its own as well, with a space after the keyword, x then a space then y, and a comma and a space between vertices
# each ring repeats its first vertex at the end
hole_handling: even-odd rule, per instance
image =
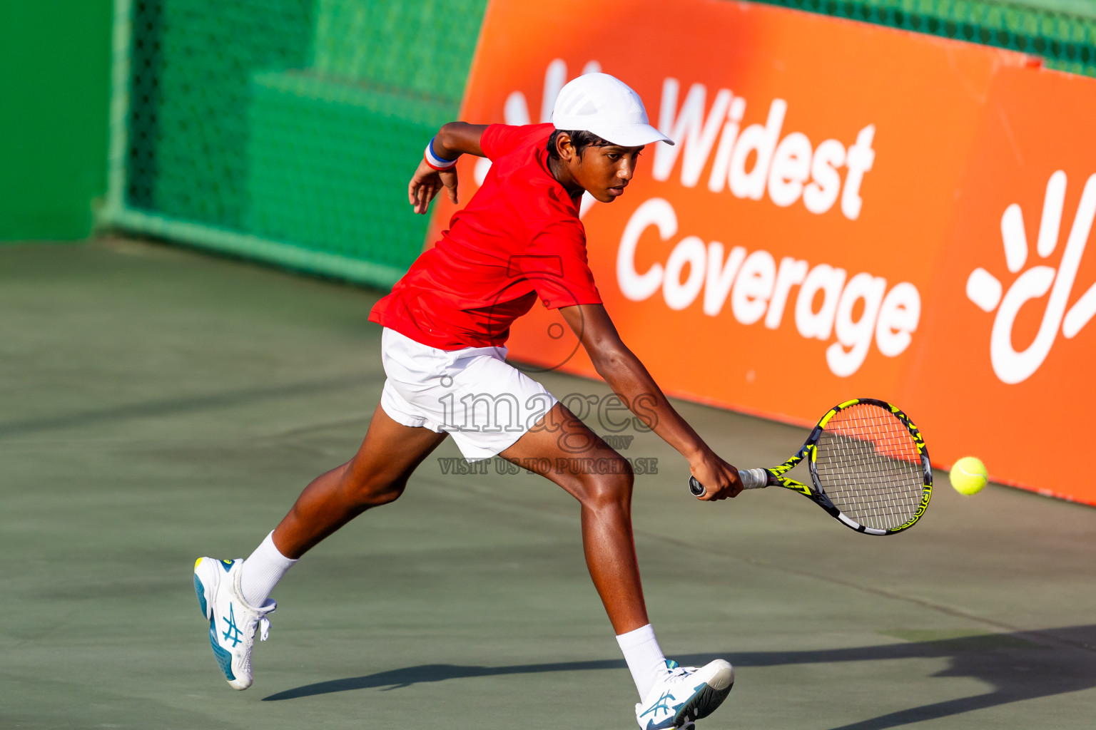
MULTIPOLYGON (((246 557, 353 453, 377 296, 140 242, 0 247, 0 727, 636 727, 576 503, 493 465, 432 459, 306 556, 254 686, 221 679, 194 558, 246 557)), ((741 466, 804 436, 681 408, 741 466)), ((784 490, 697 502, 680 457, 626 434, 659 460, 633 511, 660 641, 737 669, 700 728, 1092 727, 1096 510, 938 474, 915 529, 866 537, 784 490)))

